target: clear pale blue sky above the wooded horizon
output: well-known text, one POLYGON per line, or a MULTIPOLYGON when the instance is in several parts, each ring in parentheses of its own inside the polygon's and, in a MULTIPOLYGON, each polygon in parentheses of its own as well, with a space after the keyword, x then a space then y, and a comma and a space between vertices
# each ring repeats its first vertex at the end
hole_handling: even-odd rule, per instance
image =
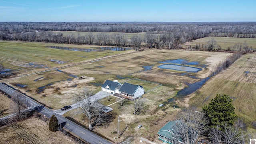
POLYGON ((256 22, 256 0, 0 0, 1 22, 256 22))

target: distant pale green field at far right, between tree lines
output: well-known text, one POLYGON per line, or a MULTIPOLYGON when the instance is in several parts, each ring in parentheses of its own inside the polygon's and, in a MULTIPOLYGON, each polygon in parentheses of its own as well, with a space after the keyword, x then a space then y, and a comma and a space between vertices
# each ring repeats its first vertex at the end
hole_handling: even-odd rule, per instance
POLYGON ((199 38, 197 40, 192 40, 191 42, 186 42, 182 44, 183 48, 187 48, 188 46, 195 46, 196 44, 207 44, 207 42, 211 39, 216 40, 216 42, 221 46, 222 49, 226 50, 228 47, 232 47, 237 43, 244 44, 246 42, 246 45, 249 47, 252 46, 254 50, 256 50, 256 38, 229 38, 229 37, 215 37, 210 36, 206 38, 199 38))

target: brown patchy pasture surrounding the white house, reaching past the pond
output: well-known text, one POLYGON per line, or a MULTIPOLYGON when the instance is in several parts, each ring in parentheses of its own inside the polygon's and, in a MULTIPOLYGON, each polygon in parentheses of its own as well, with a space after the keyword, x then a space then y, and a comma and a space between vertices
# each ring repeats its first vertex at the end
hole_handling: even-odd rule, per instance
MULTIPOLYGON (((118 52, 111 52, 109 54, 115 56, 90 61, 95 58, 92 55, 87 57, 88 59, 86 61, 90 61, 87 63, 78 62, 76 65, 59 68, 58 70, 6 79, 2 80, 2 82, 19 88, 20 91, 26 93, 28 96, 32 96, 32 98, 42 102, 53 110, 74 103, 73 96, 78 94, 82 88, 86 87, 93 92, 98 92, 101 90, 100 86, 105 80, 117 79, 121 83, 139 84, 146 90, 156 88, 158 85, 138 81, 134 78, 163 84, 143 95, 145 107, 138 114, 132 114, 134 111, 134 103, 132 101, 127 101, 124 106, 120 106, 120 102, 118 102, 110 106, 116 114, 114 121, 106 127, 100 126, 94 128, 94 131, 113 140, 113 137, 116 136, 117 118, 120 116, 123 122, 122 128, 128 126, 122 138, 126 136, 146 136, 146 138, 158 142, 156 138, 157 130, 167 121, 174 120, 175 115, 180 110, 178 106, 176 109, 173 108, 174 102, 169 101, 170 98, 174 98, 179 90, 187 87, 188 83, 192 84, 198 82, 200 78, 208 77, 214 66, 230 55, 230 53, 220 52, 154 49, 123 54, 122 56, 118 55, 118 52), (192 66, 200 67, 202 70, 194 73, 157 67, 162 65, 163 62, 167 64, 172 63, 168 60, 186 60, 188 64, 189 62, 195 63, 192 66), (85 76, 86 79, 79 80, 75 76, 85 76), (18 87, 17 84, 26 86, 18 87), (159 104, 164 105, 159 107, 159 104), (143 125, 140 130, 136 128, 139 123, 143 125)), ((81 55, 81 53, 84 52, 77 52, 78 55, 81 55)), ((100 56, 103 55, 98 54, 100 56)), ((34 69, 38 70, 39 68, 34 69)), ((117 100, 116 98, 112 98, 113 102, 117 100)), ((104 100, 101 102, 106 103, 106 99, 105 102, 104 100)), ((71 111, 64 116, 74 118, 74 120, 87 126, 87 122, 81 116, 74 116, 71 111)))

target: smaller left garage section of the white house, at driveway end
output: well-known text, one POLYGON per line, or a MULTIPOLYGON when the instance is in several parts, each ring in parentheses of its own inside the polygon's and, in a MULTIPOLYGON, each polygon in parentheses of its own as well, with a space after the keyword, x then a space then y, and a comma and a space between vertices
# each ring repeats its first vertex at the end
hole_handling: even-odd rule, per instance
POLYGON ((118 93, 119 94, 119 89, 121 88, 122 84, 120 84, 118 81, 114 80, 106 80, 104 84, 101 86, 101 90, 104 92, 108 92, 111 94, 118 93))

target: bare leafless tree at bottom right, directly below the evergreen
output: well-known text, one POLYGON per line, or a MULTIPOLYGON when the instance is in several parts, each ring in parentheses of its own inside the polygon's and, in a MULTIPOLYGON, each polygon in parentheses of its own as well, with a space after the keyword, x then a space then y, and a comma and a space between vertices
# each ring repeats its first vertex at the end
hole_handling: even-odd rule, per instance
POLYGON ((208 134, 214 144, 245 144, 245 134, 240 127, 222 124, 222 128, 211 128, 208 134))

